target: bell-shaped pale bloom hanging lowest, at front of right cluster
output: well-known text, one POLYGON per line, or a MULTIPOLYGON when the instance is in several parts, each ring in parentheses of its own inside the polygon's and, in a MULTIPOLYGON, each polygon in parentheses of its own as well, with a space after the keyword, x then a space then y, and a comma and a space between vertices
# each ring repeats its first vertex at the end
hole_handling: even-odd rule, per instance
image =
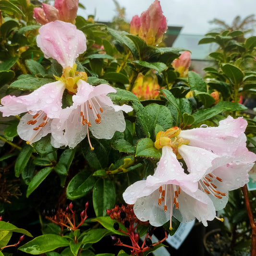
POLYGON ((197 218, 207 226, 215 218, 210 198, 197 189, 191 175, 185 174, 170 146, 163 146, 162 157, 153 176, 129 186, 123 193, 127 204, 134 204, 134 213, 142 221, 161 226, 175 217, 181 222, 197 218))

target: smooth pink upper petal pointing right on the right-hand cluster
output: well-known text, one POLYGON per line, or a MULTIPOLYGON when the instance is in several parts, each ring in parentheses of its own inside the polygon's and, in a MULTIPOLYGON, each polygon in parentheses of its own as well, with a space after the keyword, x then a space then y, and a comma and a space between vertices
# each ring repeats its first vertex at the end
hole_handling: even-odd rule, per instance
POLYGON ((212 150, 214 154, 232 155, 237 148, 245 148, 244 134, 247 122, 243 118, 229 116, 219 122, 218 127, 195 128, 181 131, 180 137, 188 139, 190 146, 212 150))

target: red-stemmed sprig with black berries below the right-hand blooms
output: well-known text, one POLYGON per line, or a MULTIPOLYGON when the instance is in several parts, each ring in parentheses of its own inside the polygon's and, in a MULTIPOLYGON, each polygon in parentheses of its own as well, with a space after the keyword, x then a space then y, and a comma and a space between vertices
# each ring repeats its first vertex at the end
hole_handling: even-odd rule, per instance
POLYGON ((148 229, 148 232, 146 234, 146 237, 144 238, 143 242, 140 241, 140 235, 136 231, 138 225, 149 225, 148 221, 141 221, 137 219, 137 217, 134 214, 133 205, 127 205, 126 207, 122 205, 121 207, 115 206, 112 209, 107 209, 107 214, 110 215, 111 219, 116 219, 117 222, 114 223, 113 228, 116 231, 122 232, 125 235, 128 235, 131 240, 131 244, 124 244, 121 242, 120 238, 116 238, 115 236, 112 236, 112 239, 115 243, 115 245, 118 246, 124 246, 131 249, 131 255, 143 255, 144 252, 152 248, 153 246, 162 243, 168 236, 167 232, 165 232, 165 237, 158 241, 157 243, 152 243, 151 237, 153 235, 154 230, 156 227, 150 226, 148 229), (126 228, 127 232, 123 231, 119 223, 122 223, 124 227, 126 228), (135 224, 134 224, 135 223, 135 224))

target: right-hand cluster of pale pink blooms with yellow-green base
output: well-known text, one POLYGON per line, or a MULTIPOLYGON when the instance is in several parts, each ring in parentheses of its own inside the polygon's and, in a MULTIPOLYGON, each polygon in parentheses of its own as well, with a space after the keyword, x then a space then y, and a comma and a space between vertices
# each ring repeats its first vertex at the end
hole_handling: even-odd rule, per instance
POLYGON ((181 222, 216 217, 225 207, 228 191, 248 182, 256 155, 246 148, 243 118, 227 119, 218 127, 181 131, 172 127, 156 136, 162 156, 153 176, 130 185, 123 193, 127 204, 142 221, 161 226, 174 216, 181 222), (183 159, 187 172, 179 159, 183 159))

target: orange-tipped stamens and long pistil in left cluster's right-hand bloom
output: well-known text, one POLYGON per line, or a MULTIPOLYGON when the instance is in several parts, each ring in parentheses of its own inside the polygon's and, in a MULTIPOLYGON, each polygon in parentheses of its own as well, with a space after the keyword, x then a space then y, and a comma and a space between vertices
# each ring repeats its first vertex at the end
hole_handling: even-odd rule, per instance
POLYGON ((96 97, 93 97, 93 98, 85 101, 85 103, 81 105, 81 111, 80 111, 81 123, 83 125, 85 125, 85 124, 87 125, 87 137, 88 137, 88 142, 89 142, 89 145, 91 147, 91 150, 94 150, 94 147, 92 146, 91 141, 90 141, 90 137, 89 137, 88 127, 92 126, 92 124, 90 122, 89 115, 94 117, 94 121, 97 124, 101 123, 101 121, 100 121, 101 116, 99 115, 98 110, 101 113, 103 112, 103 109, 101 108, 101 106, 100 106, 96 97))

